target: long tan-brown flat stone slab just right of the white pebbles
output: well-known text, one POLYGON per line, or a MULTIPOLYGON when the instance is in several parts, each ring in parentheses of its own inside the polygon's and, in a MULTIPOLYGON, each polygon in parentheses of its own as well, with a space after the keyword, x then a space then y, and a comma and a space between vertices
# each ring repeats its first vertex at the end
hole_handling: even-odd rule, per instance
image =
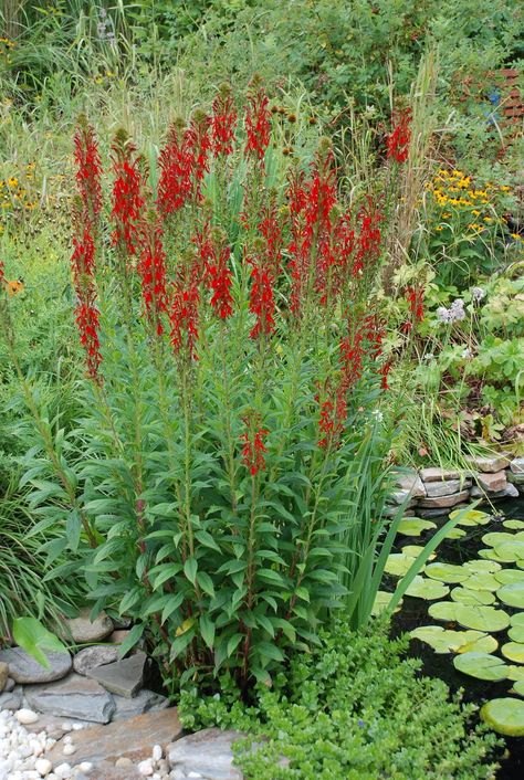
MULTIPOLYGON (((76 746, 74 762, 92 761, 98 766, 99 761, 114 763, 122 757, 138 762, 150 757, 154 745, 168 745, 181 732, 176 707, 137 715, 129 720, 116 720, 107 726, 92 726, 73 737, 76 746)), ((56 742, 48 755, 50 761, 63 760, 63 747, 62 740, 56 742)), ((92 773, 91 777, 98 779, 98 774, 92 773)))

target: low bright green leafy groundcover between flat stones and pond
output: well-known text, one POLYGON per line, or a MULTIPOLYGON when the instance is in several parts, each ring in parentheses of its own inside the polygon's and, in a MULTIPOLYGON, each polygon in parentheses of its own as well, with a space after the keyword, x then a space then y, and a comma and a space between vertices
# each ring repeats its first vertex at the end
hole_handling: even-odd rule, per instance
POLYGON ((248 780, 489 780, 494 735, 472 726, 475 707, 450 698, 444 683, 419 675, 407 640, 388 640, 344 623, 321 646, 295 657, 272 689, 240 703, 228 678, 220 693, 189 688, 179 714, 186 728, 219 726, 252 735, 235 748, 248 780))

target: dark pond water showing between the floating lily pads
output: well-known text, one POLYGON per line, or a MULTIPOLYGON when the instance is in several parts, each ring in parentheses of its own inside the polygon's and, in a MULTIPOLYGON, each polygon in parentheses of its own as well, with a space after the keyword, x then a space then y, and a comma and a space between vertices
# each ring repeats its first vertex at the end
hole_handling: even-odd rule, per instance
MULTIPOLYGON (((465 535, 460 539, 444 539, 437 549, 437 560, 448 563, 463 563, 469 560, 478 559, 478 552, 480 549, 485 548, 486 545, 482 541, 482 537, 490 531, 507 531, 507 528, 503 526, 503 521, 507 519, 521 519, 524 520, 524 498, 518 498, 512 502, 505 502, 497 504, 494 509, 485 509, 492 514, 492 519, 488 525, 480 525, 473 527, 463 527, 465 535)), ((444 518, 447 519, 447 518, 444 518)), ((440 524, 439 524, 440 525, 440 524)), ((423 545, 428 538, 430 538, 431 531, 423 534, 420 537, 412 536, 399 536, 396 548, 398 551, 406 545, 423 545)), ((506 565, 504 565, 505 567, 506 565)), ((507 566, 512 566, 507 563, 507 566)), ((397 579, 391 578, 388 582, 388 590, 394 590, 397 579)), ((450 584, 450 588, 457 587, 455 584, 450 584)), ((449 597, 447 601, 449 600, 449 597)), ((423 599, 405 597, 401 610, 394 616, 392 632, 395 635, 399 633, 411 631, 418 626, 422 625, 442 625, 444 629, 459 629, 454 623, 443 623, 431 615, 428 614, 428 609, 434 603, 432 601, 426 601, 423 599)), ((495 602, 495 607, 499 604, 495 602)), ((500 604, 510 614, 518 611, 512 610, 511 608, 500 604)), ((502 646, 505 642, 509 642, 507 631, 500 631, 494 634, 502 646)), ((417 656, 423 662, 423 673, 429 676, 438 676, 443 679, 452 691, 458 688, 463 688, 464 700, 474 702, 479 706, 484 704, 486 700, 492 698, 500 698, 506 696, 514 696, 518 698, 516 694, 510 694, 509 691, 512 687, 512 682, 509 679, 503 679, 502 682, 486 682, 483 679, 476 679, 469 675, 458 672, 453 666, 453 654, 438 654, 426 642, 421 642, 418 639, 413 639, 410 643, 410 654, 417 656)), ((500 657, 500 651, 496 653, 500 657)), ((510 663, 510 662, 509 662, 510 663)), ((501 761, 501 769, 499 770, 496 778, 497 780, 522 780, 524 778, 524 738, 510 738, 505 737, 505 742, 509 751, 509 757, 501 761)))

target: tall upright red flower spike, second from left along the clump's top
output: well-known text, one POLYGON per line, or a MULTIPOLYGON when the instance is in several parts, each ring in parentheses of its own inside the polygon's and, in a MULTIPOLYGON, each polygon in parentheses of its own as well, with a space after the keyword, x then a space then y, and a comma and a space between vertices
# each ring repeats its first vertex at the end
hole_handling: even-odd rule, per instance
POLYGON ((144 181, 135 152, 136 147, 128 141, 125 133, 118 133, 113 145, 112 242, 128 255, 135 255, 138 249, 138 224, 144 208, 144 181))

